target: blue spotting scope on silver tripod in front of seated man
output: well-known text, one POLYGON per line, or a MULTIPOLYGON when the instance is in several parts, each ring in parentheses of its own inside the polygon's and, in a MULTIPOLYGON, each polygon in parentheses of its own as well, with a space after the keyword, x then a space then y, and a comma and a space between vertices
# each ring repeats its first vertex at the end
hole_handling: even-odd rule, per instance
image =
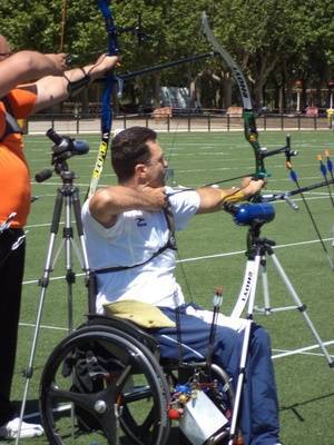
MULTIPOLYGON (((278 194, 277 196, 273 195, 271 199, 272 200, 284 199, 284 195, 285 194, 278 194)), ((276 243, 272 239, 267 239, 261 236, 262 226, 267 222, 271 222, 275 218, 274 206, 271 202, 254 202, 254 204, 249 202, 239 206, 228 204, 225 206, 225 210, 233 215, 234 221, 237 225, 248 226, 247 250, 246 250, 247 263, 245 267, 244 279, 239 291, 239 296, 230 314, 233 318, 240 318, 247 305, 245 334, 243 340, 239 369, 245 369, 246 367, 254 310, 258 310, 266 315, 269 315, 277 310, 291 310, 291 309, 298 310, 303 315, 304 320, 307 327, 310 328, 313 337, 315 338, 316 343, 318 344, 318 347, 321 348, 324 357, 326 358, 328 366, 331 368, 334 368, 333 358, 328 354, 324 342, 322 340, 314 324, 312 323, 306 312, 306 305, 302 303, 293 284, 291 283, 284 268, 282 267, 278 258, 274 253, 273 247, 275 246, 276 243), (272 259, 277 274, 279 275, 281 279, 283 280, 283 284, 285 285, 288 294, 291 295, 294 303, 293 306, 272 308, 269 301, 268 278, 266 270, 267 257, 272 259), (263 281, 264 308, 257 308, 255 306, 256 287, 259 273, 262 275, 262 281, 263 281)), ((245 374, 240 372, 237 378, 237 385, 235 390, 235 405, 230 422, 230 437, 234 437, 237 431, 237 413, 239 412, 240 408, 244 379, 245 379, 245 374)), ((233 439, 228 442, 228 445, 233 445, 233 439)))

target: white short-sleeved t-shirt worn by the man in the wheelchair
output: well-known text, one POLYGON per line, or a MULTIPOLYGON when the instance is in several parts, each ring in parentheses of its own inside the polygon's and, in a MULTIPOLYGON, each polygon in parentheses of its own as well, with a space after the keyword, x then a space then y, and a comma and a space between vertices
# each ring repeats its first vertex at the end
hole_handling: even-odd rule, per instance
MULTIPOLYGON (((196 191, 166 188, 174 214, 175 229, 183 230, 199 207, 196 191)), ((92 270, 132 266, 149 259, 169 236, 164 211, 129 210, 118 215, 111 228, 101 226, 89 212, 89 201, 82 206, 85 239, 92 270)), ((174 277, 175 250, 166 249, 143 266, 128 270, 99 274, 97 312, 106 303, 139 299, 155 306, 175 307, 184 295, 174 277)))

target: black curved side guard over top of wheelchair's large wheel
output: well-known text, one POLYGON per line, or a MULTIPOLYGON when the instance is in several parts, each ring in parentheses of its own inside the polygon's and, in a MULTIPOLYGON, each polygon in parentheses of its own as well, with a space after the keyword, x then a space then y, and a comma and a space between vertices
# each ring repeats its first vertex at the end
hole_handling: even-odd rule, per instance
POLYGON ((154 354, 159 354, 160 347, 156 338, 146 330, 141 329, 135 323, 111 315, 106 316, 101 314, 87 314, 86 317, 87 325, 102 325, 114 327, 135 337, 146 347, 148 347, 154 354))

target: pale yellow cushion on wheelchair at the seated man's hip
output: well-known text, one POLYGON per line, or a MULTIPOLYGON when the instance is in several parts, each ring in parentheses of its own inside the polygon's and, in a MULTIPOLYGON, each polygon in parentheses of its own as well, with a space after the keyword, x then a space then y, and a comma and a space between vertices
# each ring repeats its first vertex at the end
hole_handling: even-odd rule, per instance
POLYGON ((134 299, 104 305, 107 315, 128 319, 145 329, 175 327, 175 323, 161 310, 148 303, 134 299))

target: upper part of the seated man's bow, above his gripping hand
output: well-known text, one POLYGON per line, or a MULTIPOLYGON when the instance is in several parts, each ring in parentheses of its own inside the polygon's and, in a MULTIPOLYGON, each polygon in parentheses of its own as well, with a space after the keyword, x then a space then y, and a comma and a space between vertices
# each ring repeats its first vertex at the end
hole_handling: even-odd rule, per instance
POLYGON ((207 16, 205 12, 202 14, 202 26, 203 31, 209 41, 210 46, 214 48, 215 52, 219 53, 225 60, 226 65, 230 69, 235 81, 240 91, 243 100, 243 119, 244 119, 244 134, 247 141, 250 144, 254 156, 255 156, 255 178, 264 178, 267 176, 264 158, 262 156, 262 148, 258 142, 258 132, 256 129, 255 113, 253 110, 252 99, 249 95, 249 89, 245 79, 243 71, 232 56, 226 51, 224 47, 217 41, 213 30, 209 27, 207 16))

